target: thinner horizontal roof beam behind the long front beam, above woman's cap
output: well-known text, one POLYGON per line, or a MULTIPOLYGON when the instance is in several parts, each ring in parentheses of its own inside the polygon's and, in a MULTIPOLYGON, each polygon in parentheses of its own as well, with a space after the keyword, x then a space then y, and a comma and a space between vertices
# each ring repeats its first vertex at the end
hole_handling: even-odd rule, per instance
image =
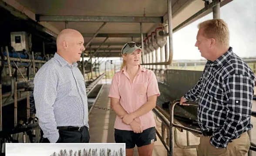
MULTIPOLYGON (((92 37, 93 33, 81 33, 84 37, 92 37)), ((146 37, 146 33, 143 34, 146 37)), ((96 37, 141 37, 140 33, 98 33, 96 37)))

